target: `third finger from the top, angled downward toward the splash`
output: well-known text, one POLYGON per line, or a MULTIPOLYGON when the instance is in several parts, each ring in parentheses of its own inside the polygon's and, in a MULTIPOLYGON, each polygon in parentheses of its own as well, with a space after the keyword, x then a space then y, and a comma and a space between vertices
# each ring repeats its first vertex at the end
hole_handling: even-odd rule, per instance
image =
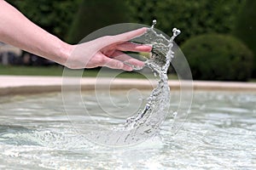
POLYGON ((113 54, 113 59, 118 59, 119 61, 122 61, 129 65, 134 65, 138 68, 142 68, 144 66, 144 62, 140 61, 138 59, 132 58, 130 55, 124 54, 123 52, 116 51, 113 54))

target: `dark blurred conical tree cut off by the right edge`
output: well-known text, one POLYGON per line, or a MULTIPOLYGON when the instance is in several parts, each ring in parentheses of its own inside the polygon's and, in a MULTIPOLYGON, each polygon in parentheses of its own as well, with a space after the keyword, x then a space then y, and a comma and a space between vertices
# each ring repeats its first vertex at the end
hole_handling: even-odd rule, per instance
POLYGON ((256 1, 247 0, 238 14, 233 35, 240 38, 253 51, 253 77, 256 77, 256 1))

